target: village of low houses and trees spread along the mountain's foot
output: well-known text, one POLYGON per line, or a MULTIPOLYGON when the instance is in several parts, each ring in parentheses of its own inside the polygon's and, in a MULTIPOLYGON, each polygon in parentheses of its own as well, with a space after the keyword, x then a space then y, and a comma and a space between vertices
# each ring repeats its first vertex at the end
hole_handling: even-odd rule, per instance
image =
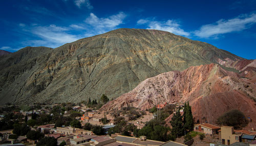
POLYGON ((0 145, 40 145, 43 137, 56 145, 256 145, 255 131, 235 130, 231 126, 219 127, 209 123, 194 122, 189 133, 176 139, 170 138, 172 140, 167 135, 161 141, 152 140, 153 136, 148 138, 138 134, 139 129, 148 125, 148 121, 156 122, 161 117, 168 119, 167 116, 177 111, 182 115, 183 110, 184 104, 167 103, 141 112, 134 107, 123 107, 112 113, 84 103, 6 105, 1 108, 0 114, 0 145), (174 112, 163 112, 166 109, 174 112))

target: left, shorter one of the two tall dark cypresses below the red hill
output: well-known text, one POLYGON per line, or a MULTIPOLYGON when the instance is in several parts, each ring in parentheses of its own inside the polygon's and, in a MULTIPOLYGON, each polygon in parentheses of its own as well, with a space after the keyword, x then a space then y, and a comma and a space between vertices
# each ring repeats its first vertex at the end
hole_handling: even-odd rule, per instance
POLYGON ((180 108, 177 109, 176 113, 174 113, 172 120, 170 121, 170 125, 172 125, 172 135, 178 137, 183 133, 183 122, 182 116, 180 114, 180 108))

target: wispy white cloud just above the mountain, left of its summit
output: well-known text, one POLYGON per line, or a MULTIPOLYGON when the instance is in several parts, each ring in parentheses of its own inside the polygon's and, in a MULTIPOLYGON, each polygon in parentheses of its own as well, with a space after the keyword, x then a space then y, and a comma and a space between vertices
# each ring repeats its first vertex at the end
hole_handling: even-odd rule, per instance
POLYGON ((119 12, 106 18, 98 18, 95 14, 91 13, 90 16, 84 20, 88 25, 89 30, 87 35, 98 35, 117 28, 118 25, 123 23, 126 14, 119 12))

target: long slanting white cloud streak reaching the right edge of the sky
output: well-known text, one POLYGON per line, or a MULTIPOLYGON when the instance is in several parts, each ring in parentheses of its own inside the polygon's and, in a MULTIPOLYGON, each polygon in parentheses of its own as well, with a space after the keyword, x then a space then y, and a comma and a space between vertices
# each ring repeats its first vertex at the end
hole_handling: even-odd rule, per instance
POLYGON ((256 14, 240 15, 229 20, 220 19, 214 24, 202 25, 200 30, 194 33, 200 38, 217 38, 221 34, 243 31, 254 23, 256 23, 256 14))

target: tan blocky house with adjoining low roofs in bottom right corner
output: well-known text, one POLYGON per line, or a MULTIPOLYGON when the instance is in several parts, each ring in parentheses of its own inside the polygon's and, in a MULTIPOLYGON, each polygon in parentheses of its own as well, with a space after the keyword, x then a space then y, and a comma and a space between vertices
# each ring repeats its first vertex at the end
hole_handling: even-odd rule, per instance
POLYGON ((222 144, 232 144, 235 142, 246 142, 250 143, 255 139, 256 132, 251 132, 247 130, 234 130, 233 127, 230 126, 222 126, 221 127, 221 141, 222 144))

